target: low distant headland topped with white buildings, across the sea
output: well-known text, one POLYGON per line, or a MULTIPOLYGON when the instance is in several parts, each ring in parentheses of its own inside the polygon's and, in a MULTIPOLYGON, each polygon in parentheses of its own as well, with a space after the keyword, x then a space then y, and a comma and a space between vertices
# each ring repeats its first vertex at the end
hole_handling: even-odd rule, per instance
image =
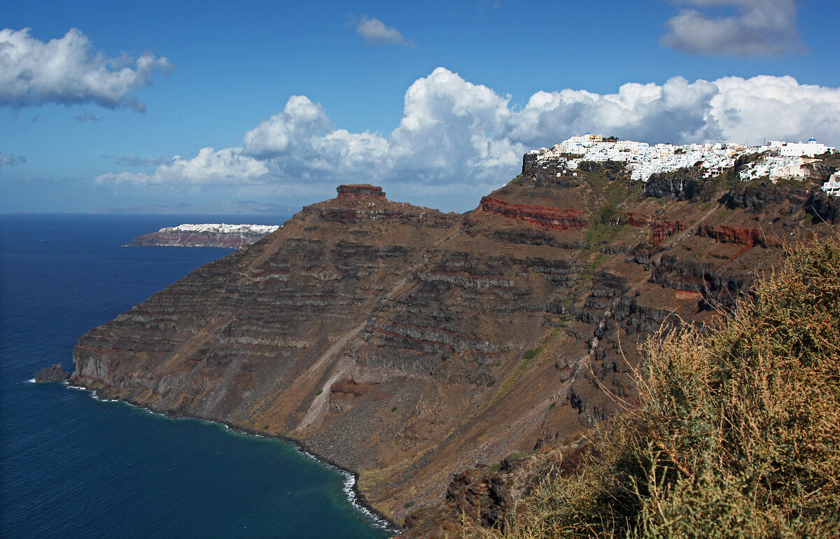
POLYGON ((124 247, 224 247, 239 249, 274 232, 278 225, 181 224, 134 238, 124 247))

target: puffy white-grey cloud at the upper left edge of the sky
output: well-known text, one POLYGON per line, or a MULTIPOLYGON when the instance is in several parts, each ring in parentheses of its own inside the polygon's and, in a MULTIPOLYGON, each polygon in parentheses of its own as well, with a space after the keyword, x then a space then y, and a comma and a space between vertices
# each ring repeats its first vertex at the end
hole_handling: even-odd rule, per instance
POLYGON ((28 28, 0 30, 0 106, 96 103, 144 112, 133 92, 156 72, 171 69, 169 60, 150 52, 136 59, 108 58, 93 51, 78 29, 46 43, 32 38, 28 28))

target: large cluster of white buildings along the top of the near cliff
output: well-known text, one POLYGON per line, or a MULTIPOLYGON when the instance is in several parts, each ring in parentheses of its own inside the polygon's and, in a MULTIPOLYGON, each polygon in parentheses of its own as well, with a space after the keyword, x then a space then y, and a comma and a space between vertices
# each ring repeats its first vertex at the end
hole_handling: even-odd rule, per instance
MULTIPOLYGON (((704 177, 711 177, 734 166, 738 157, 760 154, 758 159, 739 171, 741 179, 750 181, 769 177, 775 182, 782 178, 805 178, 808 167, 803 165, 819 161, 814 157, 828 151, 837 150, 815 139, 804 143, 771 140, 760 146, 732 143, 651 145, 586 133, 570 137, 551 148, 532 149, 529 154, 536 157, 538 164, 552 161, 552 168, 564 169, 565 172, 577 170, 583 161, 622 161, 631 170, 633 181, 648 181, 651 175, 692 166, 700 167, 704 177)), ((829 195, 840 196, 840 175, 837 172, 832 174, 822 190, 829 195)))

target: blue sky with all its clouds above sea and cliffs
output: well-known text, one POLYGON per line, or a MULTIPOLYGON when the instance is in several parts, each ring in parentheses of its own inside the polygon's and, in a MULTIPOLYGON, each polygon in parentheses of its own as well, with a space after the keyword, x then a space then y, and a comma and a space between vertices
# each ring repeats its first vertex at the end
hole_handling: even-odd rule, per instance
POLYGON ((840 146, 836 0, 0 13, 0 212, 297 206, 346 182, 466 211, 522 152, 586 131, 840 146))

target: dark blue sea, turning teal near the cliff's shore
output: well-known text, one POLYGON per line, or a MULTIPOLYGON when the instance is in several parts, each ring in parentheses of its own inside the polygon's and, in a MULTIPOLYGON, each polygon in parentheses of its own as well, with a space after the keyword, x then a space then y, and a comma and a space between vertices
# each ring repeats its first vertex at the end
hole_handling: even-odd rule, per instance
POLYGON ((228 249, 126 248, 182 222, 265 216, 0 215, 0 536, 386 537, 345 474, 288 442, 168 419, 60 383, 76 339, 228 249))

